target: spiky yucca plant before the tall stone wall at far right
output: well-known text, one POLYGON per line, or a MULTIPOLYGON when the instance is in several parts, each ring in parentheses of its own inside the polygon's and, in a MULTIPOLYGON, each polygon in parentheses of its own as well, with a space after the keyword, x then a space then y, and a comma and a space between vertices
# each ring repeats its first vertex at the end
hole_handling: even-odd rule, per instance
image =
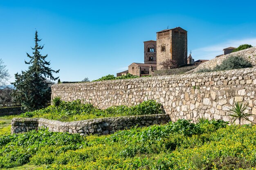
MULTIPOLYGON (((234 122, 236 121, 236 119, 238 119, 239 121, 239 125, 241 124, 241 119, 245 119, 247 121, 252 122, 251 120, 249 120, 249 116, 252 116, 252 114, 249 113, 245 113, 245 110, 248 108, 248 106, 245 106, 243 104, 243 102, 239 103, 239 102, 235 102, 235 105, 231 106, 231 108, 229 108, 229 116, 231 116, 231 122, 232 124, 234 124, 234 122)), ((253 123, 253 122, 252 122, 253 123)))

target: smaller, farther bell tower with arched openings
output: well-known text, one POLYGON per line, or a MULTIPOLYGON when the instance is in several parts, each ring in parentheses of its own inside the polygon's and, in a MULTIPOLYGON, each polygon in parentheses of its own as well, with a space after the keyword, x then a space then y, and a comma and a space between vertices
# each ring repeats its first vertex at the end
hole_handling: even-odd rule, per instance
POLYGON ((144 63, 157 64, 157 42, 154 40, 144 41, 144 63))

